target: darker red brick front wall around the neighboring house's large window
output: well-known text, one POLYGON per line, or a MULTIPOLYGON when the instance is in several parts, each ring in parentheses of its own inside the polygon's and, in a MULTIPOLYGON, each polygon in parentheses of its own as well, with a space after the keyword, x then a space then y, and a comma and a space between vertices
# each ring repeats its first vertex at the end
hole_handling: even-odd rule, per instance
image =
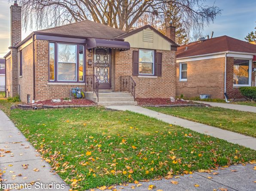
MULTIPOLYGON (((252 64, 252 68, 255 68, 256 64, 252 64)), ((226 84, 226 90, 227 95, 229 98, 244 98, 243 95, 241 95, 239 87, 233 87, 233 74, 234 74, 234 58, 233 57, 227 57, 227 84, 226 84)), ((252 82, 255 84, 255 75, 256 73, 252 73, 252 82)))

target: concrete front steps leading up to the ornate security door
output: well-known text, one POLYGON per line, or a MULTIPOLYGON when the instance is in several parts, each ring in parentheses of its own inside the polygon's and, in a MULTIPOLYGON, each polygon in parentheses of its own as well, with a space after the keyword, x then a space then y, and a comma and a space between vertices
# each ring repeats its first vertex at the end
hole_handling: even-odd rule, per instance
POLYGON ((99 90, 99 101, 95 93, 85 92, 85 98, 102 106, 137 105, 130 93, 99 90))

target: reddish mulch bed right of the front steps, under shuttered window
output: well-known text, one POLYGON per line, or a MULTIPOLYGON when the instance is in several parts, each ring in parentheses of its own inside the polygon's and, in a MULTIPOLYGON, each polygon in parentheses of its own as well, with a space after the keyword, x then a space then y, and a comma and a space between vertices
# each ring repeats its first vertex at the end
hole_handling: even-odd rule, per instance
POLYGON ((169 98, 138 98, 136 99, 138 105, 142 106, 154 106, 154 107, 161 107, 161 106, 198 106, 201 104, 195 103, 193 101, 182 101, 176 100, 171 102, 169 98))

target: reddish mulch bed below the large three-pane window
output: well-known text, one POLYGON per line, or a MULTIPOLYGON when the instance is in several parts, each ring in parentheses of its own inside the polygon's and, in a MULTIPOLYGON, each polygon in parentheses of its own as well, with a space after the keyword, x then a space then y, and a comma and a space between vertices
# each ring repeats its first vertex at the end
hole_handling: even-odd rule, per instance
POLYGON ((43 105, 95 105, 95 103, 88 99, 71 99, 71 101, 65 101, 61 99, 61 102, 55 103, 52 102, 51 99, 47 99, 44 101, 37 101, 37 104, 43 105))

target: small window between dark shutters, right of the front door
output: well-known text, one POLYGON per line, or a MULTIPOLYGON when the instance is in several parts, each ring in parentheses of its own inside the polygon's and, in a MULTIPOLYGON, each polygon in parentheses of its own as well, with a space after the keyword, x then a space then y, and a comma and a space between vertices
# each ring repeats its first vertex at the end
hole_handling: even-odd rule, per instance
POLYGON ((140 50, 139 51, 139 74, 154 75, 154 58, 155 51, 140 50))

